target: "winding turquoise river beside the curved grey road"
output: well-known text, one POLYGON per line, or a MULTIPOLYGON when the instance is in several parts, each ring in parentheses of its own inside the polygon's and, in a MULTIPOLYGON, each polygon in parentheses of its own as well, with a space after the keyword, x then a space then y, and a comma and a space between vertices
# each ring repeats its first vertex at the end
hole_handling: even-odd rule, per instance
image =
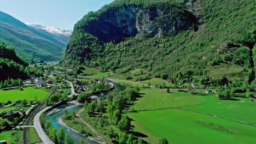
MULTIPOLYGON (((70 106, 70 105, 69 105, 70 106)), ((72 107, 68 107, 68 105, 61 105, 51 111, 49 115, 46 116, 46 118, 51 122, 54 128, 59 130, 60 128, 64 128, 66 135, 70 135, 71 139, 74 141, 74 143, 80 143, 82 140, 87 141, 89 144, 98 144, 98 142, 90 140, 88 137, 85 137, 83 135, 80 135, 76 133, 75 131, 65 127, 62 125, 59 121, 59 119, 65 115, 65 110, 68 112, 75 111, 77 109, 80 109, 83 107, 83 105, 75 105, 72 107)))

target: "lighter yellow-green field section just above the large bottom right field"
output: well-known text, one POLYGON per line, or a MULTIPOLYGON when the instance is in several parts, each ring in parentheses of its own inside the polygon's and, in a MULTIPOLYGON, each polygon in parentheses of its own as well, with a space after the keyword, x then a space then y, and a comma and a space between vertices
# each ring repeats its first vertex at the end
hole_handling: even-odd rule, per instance
POLYGON ((177 92, 171 89, 167 93, 166 89, 142 89, 141 96, 138 101, 135 101, 135 110, 162 109, 166 107, 179 107, 188 105, 197 105, 208 101, 217 100, 216 97, 210 94, 192 95, 190 93, 177 92))

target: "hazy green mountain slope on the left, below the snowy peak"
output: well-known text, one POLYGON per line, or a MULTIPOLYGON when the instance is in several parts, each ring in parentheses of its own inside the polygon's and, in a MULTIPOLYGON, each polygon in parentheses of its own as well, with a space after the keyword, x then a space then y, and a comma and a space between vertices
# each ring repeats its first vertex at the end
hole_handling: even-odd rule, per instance
POLYGON ((17 55, 23 59, 33 58, 44 61, 58 61, 66 49, 66 38, 42 29, 27 26, 25 23, 0 11, 0 40, 15 47, 17 55))

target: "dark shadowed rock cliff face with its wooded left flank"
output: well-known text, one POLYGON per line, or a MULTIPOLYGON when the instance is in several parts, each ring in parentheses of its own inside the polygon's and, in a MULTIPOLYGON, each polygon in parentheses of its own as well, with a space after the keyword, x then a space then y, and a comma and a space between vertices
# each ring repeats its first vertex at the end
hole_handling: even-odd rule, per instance
POLYGON ((186 10, 173 10, 173 7, 143 8, 140 5, 123 5, 101 15, 90 15, 93 14, 88 14, 75 26, 62 60, 63 65, 80 64, 86 59, 100 57, 95 52, 104 51, 103 43, 110 41, 120 43, 125 38, 139 34, 166 37, 196 28, 193 14, 186 10), (88 41, 91 38, 94 39, 93 43, 88 41))

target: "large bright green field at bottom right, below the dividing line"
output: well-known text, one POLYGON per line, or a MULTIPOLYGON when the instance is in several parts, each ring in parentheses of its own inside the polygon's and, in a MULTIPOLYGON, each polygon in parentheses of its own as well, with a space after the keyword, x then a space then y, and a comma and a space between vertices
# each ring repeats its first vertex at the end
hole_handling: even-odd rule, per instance
POLYGON ((129 113, 135 131, 147 135, 144 140, 158 143, 166 137, 170 143, 254 143, 256 128, 223 118, 178 109, 129 113))

